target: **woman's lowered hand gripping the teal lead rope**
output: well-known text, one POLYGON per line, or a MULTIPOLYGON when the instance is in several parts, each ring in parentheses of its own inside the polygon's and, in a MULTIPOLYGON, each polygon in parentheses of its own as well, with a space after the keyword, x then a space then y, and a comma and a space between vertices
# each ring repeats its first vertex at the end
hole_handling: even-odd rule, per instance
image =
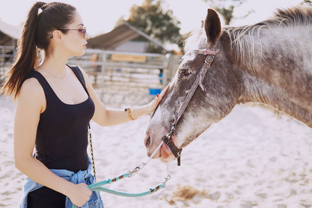
POLYGON ((90 199, 92 191, 84 183, 73 185, 67 197, 74 205, 82 207, 90 199))

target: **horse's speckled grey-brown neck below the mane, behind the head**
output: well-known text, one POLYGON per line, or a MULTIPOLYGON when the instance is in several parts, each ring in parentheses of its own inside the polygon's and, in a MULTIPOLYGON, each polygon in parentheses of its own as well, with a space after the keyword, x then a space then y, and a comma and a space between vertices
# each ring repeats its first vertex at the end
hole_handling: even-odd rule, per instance
POLYGON ((257 43, 254 56, 240 60, 243 92, 240 101, 271 105, 312 128, 312 42, 270 37, 257 43), (257 58, 254 58, 257 57, 257 58))

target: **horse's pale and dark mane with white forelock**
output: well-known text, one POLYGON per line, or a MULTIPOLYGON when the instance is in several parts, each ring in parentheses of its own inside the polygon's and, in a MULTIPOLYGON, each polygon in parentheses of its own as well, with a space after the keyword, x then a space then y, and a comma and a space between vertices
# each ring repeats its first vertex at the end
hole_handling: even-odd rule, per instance
MULTIPOLYGON (((312 26, 312 7, 298 6, 288 9, 277 9, 274 16, 270 19, 252 24, 249 26, 227 26, 224 27, 223 33, 229 35, 231 40, 231 49, 240 60, 245 57, 245 51, 248 52, 249 60, 254 61, 255 40, 257 37, 261 43, 261 29, 263 28, 291 28, 297 26, 312 26)), ((192 31, 192 34, 185 42, 184 50, 188 51, 194 47, 206 46, 206 35, 204 29, 192 31)), ((262 44, 261 44, 262 54, 262 44)))

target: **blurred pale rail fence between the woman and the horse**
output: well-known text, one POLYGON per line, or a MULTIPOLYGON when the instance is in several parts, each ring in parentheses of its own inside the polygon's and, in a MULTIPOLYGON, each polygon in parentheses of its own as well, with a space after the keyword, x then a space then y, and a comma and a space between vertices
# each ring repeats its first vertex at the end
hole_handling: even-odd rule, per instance
POLYGON ((101 101, 109 106, 151 101, 174 76, 181 56, 87 49, 68 60, 88 73, 101 101))

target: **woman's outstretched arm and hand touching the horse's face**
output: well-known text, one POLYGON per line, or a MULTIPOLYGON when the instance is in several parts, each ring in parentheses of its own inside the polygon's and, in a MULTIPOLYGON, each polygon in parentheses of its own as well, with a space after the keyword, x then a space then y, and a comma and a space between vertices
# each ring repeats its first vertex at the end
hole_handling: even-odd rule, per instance
MULTIPOLYGON (((95 123, 101 126, 107 126, 107 125, 117 125, 120 123, 131 121, 131 119, 129 118, 128 112, 125 112, 124 110, 106 109, 105 105, 101 103, 97 94, 95 94, 95 89, 93 89, 90 83, 90 80, 88 78, 88 75, 83 70, 81 70, 81 72, 83 73, 83 78, 85 79, 85 85, 88 89, 90 97, 95 103, 95 114, 92 118, 92 120, 95 121, 95 123)), ((138 119, 138 117, 142 115, 153 112, 156 109, 158 103, 161 102, 161 99, 165 95, 165 92, 167 92, 168 88, 169 88, 169 85, 165 87, 163 92, 161 92, 159 96, 156 96, 156 98, 153 101, 151 101, 151 103, 147 105, 135 107, 133 109, 133 117, 138 119)))

